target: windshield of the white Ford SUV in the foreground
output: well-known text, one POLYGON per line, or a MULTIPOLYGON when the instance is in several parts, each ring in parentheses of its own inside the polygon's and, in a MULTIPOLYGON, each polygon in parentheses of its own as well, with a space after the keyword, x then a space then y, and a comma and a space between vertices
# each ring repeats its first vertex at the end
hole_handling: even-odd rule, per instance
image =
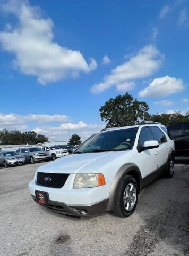
POLYGON ((133 147, 137 128, 102 132, 85 141, 74 154, 128 150, 133 147))

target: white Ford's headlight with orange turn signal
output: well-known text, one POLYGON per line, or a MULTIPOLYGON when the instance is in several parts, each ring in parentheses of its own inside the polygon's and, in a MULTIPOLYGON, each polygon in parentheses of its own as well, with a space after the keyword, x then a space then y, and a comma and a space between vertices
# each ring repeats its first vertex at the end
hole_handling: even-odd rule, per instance
POLYGON ((105 177, 102 173, 77 174, 73 188, 93 188, 105 184, 105 177))

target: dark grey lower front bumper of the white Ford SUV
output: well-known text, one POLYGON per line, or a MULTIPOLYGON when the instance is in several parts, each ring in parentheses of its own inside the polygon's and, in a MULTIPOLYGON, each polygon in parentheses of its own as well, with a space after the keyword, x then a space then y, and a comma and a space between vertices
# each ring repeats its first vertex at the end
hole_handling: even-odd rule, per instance
POLYGON ((33 200, 46 207, 50 211, 61 213, 64 215, 72 215, 72 216, 77 216, 77 217, 83 217, 83 216, 92 216, 92 215, 97 215, 101 212, 104 212, 107 207, 107 200, 101 201, 97 204, 93 205, 80 205, 80 206, 74 206, 74 205, 67 205, 66 203, 63 202, 57 202, 57 201, 49 201, 49 205, 44 205, 36 200, 36 196, 31 195, 33 200))

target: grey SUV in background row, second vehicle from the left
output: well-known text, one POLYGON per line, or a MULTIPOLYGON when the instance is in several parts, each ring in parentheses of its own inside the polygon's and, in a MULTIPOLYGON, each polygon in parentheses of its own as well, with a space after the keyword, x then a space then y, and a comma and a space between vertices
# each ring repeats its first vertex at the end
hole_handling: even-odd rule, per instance
POLYGON ((39 147, 19 148, 16 152, 24 156, 25 161, 31 164, 39 161, 50 160, 49 153, 47 151, 43 151, 39 147))

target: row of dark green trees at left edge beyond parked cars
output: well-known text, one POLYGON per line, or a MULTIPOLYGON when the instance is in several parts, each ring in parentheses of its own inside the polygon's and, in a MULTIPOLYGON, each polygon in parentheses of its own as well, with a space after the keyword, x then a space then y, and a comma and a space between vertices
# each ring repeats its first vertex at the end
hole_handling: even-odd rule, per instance
POLYGON ((48 141, 44 135, 36 132, 20 132, 19 130, 8 131, 3 129, 0 131, 0 145, 15 145, 15 144, 37 144, 48 141))

